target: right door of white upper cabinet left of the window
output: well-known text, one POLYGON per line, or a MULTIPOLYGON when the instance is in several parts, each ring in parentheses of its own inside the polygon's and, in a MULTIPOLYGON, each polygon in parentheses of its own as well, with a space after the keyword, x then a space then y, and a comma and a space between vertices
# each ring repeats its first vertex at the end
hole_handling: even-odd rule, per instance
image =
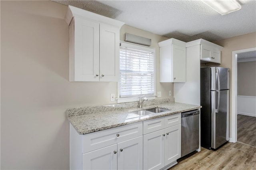
POLYGON ((118 81, 119 32, 117 27, 100 24, 100 81, 118 81))

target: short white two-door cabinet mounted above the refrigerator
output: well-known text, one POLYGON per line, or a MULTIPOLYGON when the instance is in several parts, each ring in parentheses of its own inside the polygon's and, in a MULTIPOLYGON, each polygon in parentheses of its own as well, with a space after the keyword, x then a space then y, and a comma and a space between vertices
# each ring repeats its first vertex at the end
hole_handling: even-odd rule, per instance
POLYGON ((187 43, 187 47, 191 47, 194 45, 200 44, 201 46, 201 54, 200 60, 201 63, 221 63, 221 50, 222 46, 208 42, 203 39, 194 40, 192 42, 187 43))

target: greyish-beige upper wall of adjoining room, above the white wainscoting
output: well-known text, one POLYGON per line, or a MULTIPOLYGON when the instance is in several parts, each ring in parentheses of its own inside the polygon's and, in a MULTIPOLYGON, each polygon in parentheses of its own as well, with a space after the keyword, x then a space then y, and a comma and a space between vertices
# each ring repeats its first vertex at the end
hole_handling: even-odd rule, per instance
POLYGON ((237 95, 256 96, 256 61, 237 63, 237 95))

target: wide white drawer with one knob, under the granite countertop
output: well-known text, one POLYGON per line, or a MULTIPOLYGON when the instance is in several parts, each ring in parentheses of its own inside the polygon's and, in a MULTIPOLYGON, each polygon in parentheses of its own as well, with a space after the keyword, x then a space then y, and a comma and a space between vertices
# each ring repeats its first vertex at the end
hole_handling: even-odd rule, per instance
POLYGON ((142 136, 142 122, 83 135, 83 153, 142 136))

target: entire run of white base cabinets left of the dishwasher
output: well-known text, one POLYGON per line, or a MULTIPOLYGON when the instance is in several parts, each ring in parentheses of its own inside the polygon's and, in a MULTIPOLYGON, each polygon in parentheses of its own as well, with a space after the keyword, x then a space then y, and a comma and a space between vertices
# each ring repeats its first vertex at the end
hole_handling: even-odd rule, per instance
POLYGON ((70 170, 169 168, 180 158, 180 120, 178 113, 84 135, 70 124, 70 170))

